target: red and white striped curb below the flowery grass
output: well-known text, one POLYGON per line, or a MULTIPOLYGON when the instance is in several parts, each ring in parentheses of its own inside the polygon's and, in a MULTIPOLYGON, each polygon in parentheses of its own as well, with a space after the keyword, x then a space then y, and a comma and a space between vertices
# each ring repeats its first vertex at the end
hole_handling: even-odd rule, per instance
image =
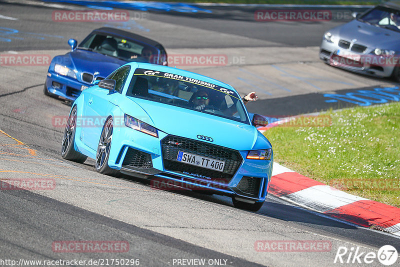
POLYGON ((328 216, 400 236, 400 208, 340 191, 276 162, 268 193, 328 216))

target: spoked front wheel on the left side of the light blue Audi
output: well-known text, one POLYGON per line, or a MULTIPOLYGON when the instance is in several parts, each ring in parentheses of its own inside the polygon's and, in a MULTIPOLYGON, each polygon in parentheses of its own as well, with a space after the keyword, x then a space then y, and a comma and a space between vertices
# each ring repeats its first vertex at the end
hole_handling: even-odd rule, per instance
POLYGON ((114 122, 112 117, 108 118, 104 127, 101 131, 100 140, 97 145, 96 153, 96 170, 103 174, 108 174, 112 176, 119 176, 120 172, 116 169, 110 168, 108 166, 109 149, 111 147, 112 141, 112 131, 114 128, 114 122))

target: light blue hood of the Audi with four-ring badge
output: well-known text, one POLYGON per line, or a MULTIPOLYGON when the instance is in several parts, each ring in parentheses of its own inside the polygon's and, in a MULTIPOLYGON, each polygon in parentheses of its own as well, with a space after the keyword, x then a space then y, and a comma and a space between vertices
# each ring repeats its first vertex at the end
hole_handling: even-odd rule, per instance
POLYGON ((209 143, 235 150, 271 148, 267 139, 252 125, 164 103, 128 98, 142 108, 138 119, 167 134, 201 141, 208 139, 212 140, 209 143))

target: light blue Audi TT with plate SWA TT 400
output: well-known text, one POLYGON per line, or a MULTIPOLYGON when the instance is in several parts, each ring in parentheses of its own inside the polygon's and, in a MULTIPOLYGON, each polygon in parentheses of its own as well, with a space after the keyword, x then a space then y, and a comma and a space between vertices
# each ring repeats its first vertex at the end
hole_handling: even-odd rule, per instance
POLYGON ((154 187, 203 190, 256 211, 268 191, 272 147, 230 85, 189 71, 130 62, 73 102, 63 158, 98 172, 151 179, 154 187), (157 185, 157 186, 155 186, 157 185))

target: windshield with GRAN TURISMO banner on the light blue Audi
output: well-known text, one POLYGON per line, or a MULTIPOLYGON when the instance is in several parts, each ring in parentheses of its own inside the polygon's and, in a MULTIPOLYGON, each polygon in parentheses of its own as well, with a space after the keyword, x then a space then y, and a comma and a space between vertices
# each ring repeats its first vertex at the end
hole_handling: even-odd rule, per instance
POLYGON ((237 92, 191 77, 138 68, 126 95, 250 124, 237 92))

